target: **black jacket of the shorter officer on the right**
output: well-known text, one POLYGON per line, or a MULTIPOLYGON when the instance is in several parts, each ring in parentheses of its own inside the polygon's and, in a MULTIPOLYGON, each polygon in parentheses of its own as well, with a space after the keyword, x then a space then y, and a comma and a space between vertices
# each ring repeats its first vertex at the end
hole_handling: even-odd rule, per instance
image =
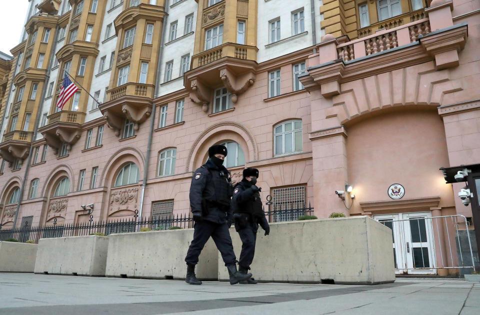
POLYGON ((263 230, 266 230, 268 226, 268 221, 263 212, 260 193, 258 191, 253 192, 251 186, 249 181, 242 179, 233 188, 232 208, 234 217, 239 219, 235 220, 236 230, 242 228, 241 218, 247 221, 248 227, 252 228, 254 232, 258 230, 258 224, 260 224, 263 230))

